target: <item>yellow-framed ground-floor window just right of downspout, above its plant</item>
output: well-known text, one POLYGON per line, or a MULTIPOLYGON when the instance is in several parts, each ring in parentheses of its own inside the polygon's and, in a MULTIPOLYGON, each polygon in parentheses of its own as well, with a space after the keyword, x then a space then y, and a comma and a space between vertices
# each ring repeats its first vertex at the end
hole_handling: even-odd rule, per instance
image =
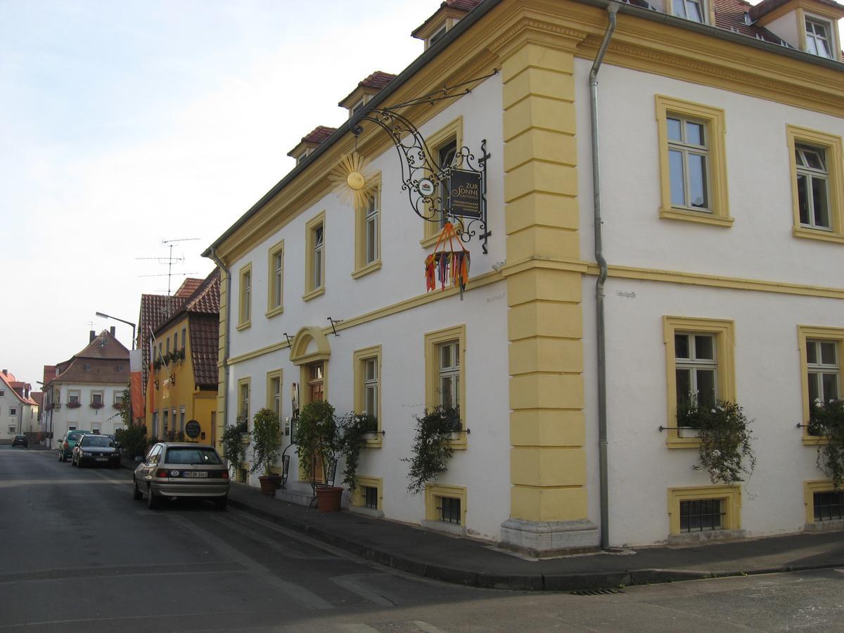
POLYGON ((679 408, 735 401, 733 322, 663 317, 668 391, 668 446, 699 445, 695 429, 679 428, 679 408))

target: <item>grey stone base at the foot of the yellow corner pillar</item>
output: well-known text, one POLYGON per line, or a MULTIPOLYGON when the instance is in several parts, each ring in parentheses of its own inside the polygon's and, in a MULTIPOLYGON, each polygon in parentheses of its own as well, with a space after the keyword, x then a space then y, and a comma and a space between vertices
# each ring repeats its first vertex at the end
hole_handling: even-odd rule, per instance
POLYGON ((601 543, 598 526, 580 521, 525 521, 501 523, 500 546, 535 558, 596 551, 601 543))

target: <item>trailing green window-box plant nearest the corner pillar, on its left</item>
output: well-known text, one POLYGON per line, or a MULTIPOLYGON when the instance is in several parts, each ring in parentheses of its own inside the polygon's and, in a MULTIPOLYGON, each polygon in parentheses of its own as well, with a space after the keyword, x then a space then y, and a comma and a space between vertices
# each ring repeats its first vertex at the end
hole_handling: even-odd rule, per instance
POLYGON ((426 408, 422 417, 416 419, 416 437, 414 438, 413 457, 403 457, 403 462, 410 464, 408 491, 417 494, 425 490, 425 484, 436 481, 440 473, 445 473, 447 463, 454 452, 453 434, 462 430, 460 409, 444 407, 426 408))

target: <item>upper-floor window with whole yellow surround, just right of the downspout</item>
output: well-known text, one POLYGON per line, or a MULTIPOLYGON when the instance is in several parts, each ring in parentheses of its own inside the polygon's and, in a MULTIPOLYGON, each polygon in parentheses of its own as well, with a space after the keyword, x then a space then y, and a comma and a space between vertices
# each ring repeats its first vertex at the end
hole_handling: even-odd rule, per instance
POLYGON ((730 226, 721 108, 657 95, 661 218, 730 226))

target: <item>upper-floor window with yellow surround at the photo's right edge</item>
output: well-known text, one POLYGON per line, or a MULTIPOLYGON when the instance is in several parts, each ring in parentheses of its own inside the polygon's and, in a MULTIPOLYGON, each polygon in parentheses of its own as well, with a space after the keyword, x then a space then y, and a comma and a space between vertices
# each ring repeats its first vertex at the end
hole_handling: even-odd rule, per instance
POLYGON ((793 235, 844 242, 841 137, 787 127, 792 176, 793 235))

